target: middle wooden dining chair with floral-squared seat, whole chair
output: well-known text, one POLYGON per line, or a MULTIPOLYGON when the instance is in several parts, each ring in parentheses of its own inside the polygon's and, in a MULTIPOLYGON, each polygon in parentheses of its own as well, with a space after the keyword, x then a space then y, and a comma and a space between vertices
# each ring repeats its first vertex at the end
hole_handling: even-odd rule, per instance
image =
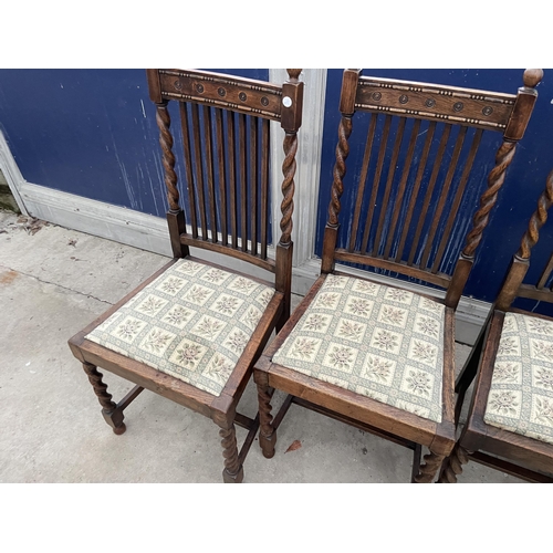
POLYGON ((455 445, 455 311, 541 77, 528 70, 502 94, 344 72, 321 275, 254 367, 264 457, 294 403, 413 449, 413 480, 434 479, 455 445), (366 132, 348 185, 354 118, 366 132), (459 208, 484 188, 470 170, 486 131, 502 140, 469 230, 459 208), (355 205, 338 234, 346 192, 355 205), (409 279, 445 293, 407 289, 409 279), (274 420, 273 389, 289 394, 274 420))

